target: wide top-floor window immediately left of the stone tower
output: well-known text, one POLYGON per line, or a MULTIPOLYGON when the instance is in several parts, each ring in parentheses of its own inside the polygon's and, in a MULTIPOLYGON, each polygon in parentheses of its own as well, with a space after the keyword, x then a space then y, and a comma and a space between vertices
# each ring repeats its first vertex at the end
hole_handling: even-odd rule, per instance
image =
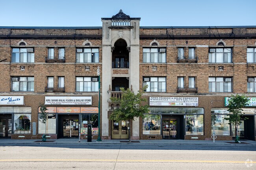
POLYGON ((98 63, 99 62, 99 49, 76 49, 76 62, 77 63, 98 63))

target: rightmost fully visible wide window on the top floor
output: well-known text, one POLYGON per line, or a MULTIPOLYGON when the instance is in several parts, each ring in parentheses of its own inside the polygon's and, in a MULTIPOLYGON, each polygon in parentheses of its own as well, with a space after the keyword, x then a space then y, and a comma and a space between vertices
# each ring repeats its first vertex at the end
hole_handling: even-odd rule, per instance
POLYGON ((231 48, 216 48, 209 50, 209 63, 231 63, 231 48))

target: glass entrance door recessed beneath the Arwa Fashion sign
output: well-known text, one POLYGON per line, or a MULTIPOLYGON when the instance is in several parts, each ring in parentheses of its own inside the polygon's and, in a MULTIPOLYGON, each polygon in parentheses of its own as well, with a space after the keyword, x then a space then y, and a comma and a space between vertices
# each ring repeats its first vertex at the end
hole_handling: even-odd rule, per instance
POLYGON ((163 119, 163 139, 177 138, 177 119, 163 119))

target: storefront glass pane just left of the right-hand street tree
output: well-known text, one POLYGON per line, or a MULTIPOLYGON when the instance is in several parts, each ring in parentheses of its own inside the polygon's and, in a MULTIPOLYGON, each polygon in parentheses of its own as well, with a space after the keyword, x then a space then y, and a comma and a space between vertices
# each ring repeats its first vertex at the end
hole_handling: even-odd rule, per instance
POLYGON ((228 115, 212 114, 211 115, 211 134, 213 134, 213 125, 215 129, 215 135, 230 136, 229 121, 225 120, 228 115))

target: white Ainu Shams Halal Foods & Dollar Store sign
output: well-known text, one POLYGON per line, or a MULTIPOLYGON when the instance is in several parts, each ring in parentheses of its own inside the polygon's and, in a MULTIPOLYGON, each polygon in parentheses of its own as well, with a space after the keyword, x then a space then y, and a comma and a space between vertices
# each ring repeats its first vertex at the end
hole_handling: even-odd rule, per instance
POLYGON ((45 105, 91 105, 91 96, 45 96, 45 105))

